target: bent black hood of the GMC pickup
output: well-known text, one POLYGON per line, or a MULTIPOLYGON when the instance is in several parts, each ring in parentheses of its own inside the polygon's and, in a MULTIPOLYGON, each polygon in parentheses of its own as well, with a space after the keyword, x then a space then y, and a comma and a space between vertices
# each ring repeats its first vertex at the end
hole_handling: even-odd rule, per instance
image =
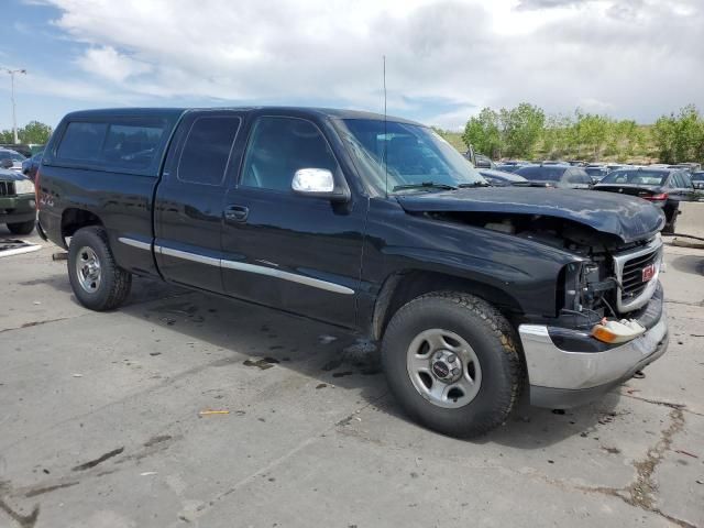
POLYGON ((506 212, 564 218, 614 234, 625 243, 653 237, 664 216, 629 196, 573 189, 490 187, 396 196, 407 212, 506 212))

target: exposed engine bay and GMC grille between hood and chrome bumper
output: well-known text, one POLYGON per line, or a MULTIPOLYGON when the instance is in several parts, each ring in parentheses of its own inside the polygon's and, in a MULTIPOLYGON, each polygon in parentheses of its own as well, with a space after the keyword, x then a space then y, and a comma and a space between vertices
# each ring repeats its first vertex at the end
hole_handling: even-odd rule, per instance
POLYGON ((642 333, 630 316, 649 302, 657 288, 662 264, 659 233, 626 243, 574 220, 549 216, 427 215, 528 239, 573 255, 557 277, 554 319, 546 320, 551 326, 590 332, 600 329, 595 337, 610 343, 642 333))

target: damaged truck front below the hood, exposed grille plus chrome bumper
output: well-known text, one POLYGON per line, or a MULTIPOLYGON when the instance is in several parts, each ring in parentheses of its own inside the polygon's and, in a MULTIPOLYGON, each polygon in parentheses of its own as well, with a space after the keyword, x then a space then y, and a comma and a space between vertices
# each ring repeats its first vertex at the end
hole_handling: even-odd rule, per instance
POLYGON ((574 255, 557 277, 554 317, 526 318, 517 324, 531 404, 549 408, 585 404, 664 353, 668 329, 659 282, 659 233, 626 243, 579 222, 544 216, 430 215, 574 255))

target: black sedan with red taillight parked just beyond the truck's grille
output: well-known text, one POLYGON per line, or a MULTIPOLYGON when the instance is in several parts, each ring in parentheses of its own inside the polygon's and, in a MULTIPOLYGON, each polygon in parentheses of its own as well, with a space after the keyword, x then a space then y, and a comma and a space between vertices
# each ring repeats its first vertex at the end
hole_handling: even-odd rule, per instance
POLYGON ((662 209, 667 223, 664 232, 674 232, 680 201, 695 199, 689 172, 671 168, 622 168, 602 179, 594 190, 619 193, 644 198, 662 209))

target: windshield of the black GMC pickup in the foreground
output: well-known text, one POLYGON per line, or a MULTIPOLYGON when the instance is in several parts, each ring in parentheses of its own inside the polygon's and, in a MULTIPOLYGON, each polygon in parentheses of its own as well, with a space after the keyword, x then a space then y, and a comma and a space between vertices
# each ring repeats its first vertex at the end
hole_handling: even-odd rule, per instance
POLYGON ((436 190, 435 185, 486 185, 472 164, 431 129, 372 119, 340 122, 362 177, 380 194, 400 191, 400 186, 436 190))

